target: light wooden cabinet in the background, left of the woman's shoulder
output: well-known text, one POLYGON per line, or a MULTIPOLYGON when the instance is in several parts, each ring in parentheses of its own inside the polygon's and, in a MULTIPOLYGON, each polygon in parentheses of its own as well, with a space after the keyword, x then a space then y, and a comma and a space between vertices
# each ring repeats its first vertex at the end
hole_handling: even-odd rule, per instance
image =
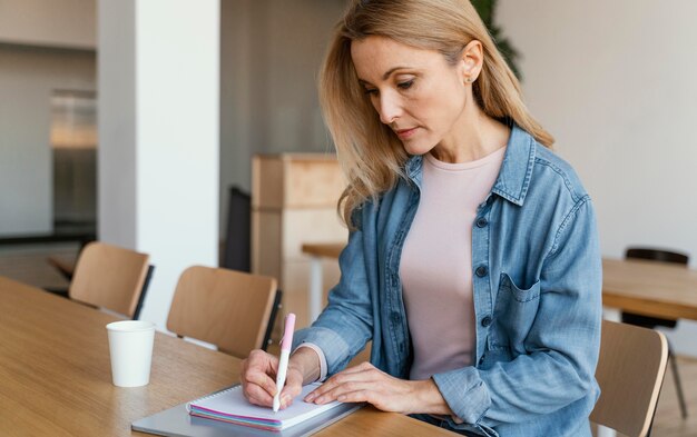
MULTIPOLYGON (((257 155, 252 162, 252 271, 278 279, 283 311, 308 325, 306 242, 344 242, 336 213, 345 181, 336 158, 321 153, 257 155)), ((338 281, 336 260, 323 261, 324 292, 338 281)), ((326 295, 325 295, 326 296, 326 295)), ((278 317, 278 320, 283 317, 278 317)), ((279 332, 277 332, 279 334, 279 332)))

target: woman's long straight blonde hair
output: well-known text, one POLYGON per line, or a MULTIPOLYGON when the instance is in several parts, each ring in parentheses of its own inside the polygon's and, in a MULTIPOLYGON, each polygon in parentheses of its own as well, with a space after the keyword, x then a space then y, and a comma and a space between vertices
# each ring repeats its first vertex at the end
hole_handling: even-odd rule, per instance
POLYGON ((409 158, 392 130, 380 121, 359 83, 351 42, 382 36, 420 49, 441 52, 455 64, 472 40, 484 59, 473 83, 474 99, 489 117, 512 120, 538 142, 553 138, 528 112, 518 79, 503 60, 469 0, 354 0, 337 24, 320 73, 320 102, 348 186, 337 210, 353 229, 353 211, 393 188, 404 177, 409 158))

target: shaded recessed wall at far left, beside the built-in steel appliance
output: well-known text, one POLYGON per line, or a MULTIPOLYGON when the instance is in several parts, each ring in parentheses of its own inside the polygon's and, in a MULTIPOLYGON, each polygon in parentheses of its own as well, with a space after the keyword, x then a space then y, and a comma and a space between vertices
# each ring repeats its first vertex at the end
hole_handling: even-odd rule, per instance
POLYGON ((95 64, 89 51, 0 43, 0 237, 52 231, 51 92, 94 91, 95 64))

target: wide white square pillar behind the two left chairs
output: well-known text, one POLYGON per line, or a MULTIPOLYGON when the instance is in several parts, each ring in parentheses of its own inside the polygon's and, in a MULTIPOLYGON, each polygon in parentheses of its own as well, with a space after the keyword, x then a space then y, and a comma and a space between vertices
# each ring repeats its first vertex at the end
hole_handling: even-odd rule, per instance
POLYGON ((100 0, 99 29, 99 237, 150 255, 164 329, 181 271, 217 265, 219 2, 100 0))

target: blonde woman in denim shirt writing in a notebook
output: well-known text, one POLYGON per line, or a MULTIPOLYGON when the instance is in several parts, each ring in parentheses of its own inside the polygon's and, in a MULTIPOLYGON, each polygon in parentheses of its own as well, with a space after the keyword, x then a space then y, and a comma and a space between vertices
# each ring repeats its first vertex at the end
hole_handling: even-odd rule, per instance
MULTIPOLYGON (((375 407, 477 436, 590 436, 593 210, 467 0, 354 1, 321 77, 350 180, 342 278, 296 332, 282 405, 375 407), (344 369, 372 340, 371 364, 344 369)), ((244 393, 269 406, 277 359, 244 393)))

